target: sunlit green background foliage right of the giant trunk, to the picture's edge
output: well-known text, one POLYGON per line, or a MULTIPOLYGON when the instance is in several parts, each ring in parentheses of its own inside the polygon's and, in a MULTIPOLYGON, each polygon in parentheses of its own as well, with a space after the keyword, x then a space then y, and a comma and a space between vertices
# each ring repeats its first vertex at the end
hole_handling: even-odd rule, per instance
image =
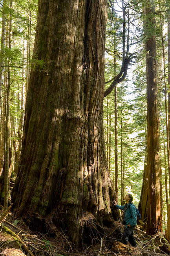
MULTIPOLYGON (((110 1, 109 1, 110 2, 110 1)), ((133 72, 128 71, 126 81, 117 87, 118 98, 118 167, 119 167, 119 197, 121 195, 121 167, 124 169, 125 193, 131 191, 135 204, 139 201, 143 179, 144 157, 146 155, 146 133, 147 133, 147 106, 146 106, 146 69, 144 40, 156 33, 157 44, 157 78, 158 78, 158 102, 159 102, 159 130, 160 130, 160 157, 163 172, 162 186, 163 198, 165 198, 165 154, 164 137, 166 147, 166 119, 165 119, 165 96, 164 96, 164 73, 163 73, 163 48, 165 52, 166 81, 168 75, 167 59, 167 9, 170 1, 155 1, 155 12, 146 17, 143 15, 144 1, 128 1, 126 6, 127 17, 129 17, 131 49, 137 52, 133 72), (128 9, 129 8, 129 9, 128 9), (129 15, 129 16, 128 16, 129 15), (156 30, 150 19, 155 16, 156 30), (163 24, 163 35, 161 33, 161 22, 163 24), (143 30, 143 21, 147 26, 143 30), (143 39, 143 40, 142 40, 143 39), (135 41, 137 42, 134 45, 135 41), (120 88, 124 88, 124 94, 120 88), (128 100, 127 100, 128 98, 128 100), (129 100, 130 98, 130 100, 129 100), (122 137, 121 137, 122 136, 122 137), (122 145, 121 145, 122 139, 122 145), (122 150, 123 149, 123 150, 122 150), (123 166, 121 162, 121 150, 123 152, 123 166)), ((117 7, 114 6, 115 9, 117 7)), ((109 9, 108 27, 106 36, 106 81, 111 80, 119 72, 121 65, 121 11, 109 9), (117 19, 118 17, 118 19, 117 19), (114 26, 113 26, 114 20, 114 26), (115 39, 115 41, 113 40, 115 39), (108 41, 107 41, 108 40, 108 41), (113 58, 116 59, 116 64, 113 58)), ((119 9, 120 10, 120 9, 119 9)), ((130 50, 132 51, 132 50, 130 50)), ((110 83, 107 84, 107 86, 110 83)), ((169 86, 169 85, 168 85, 169 86)), ((169 92, 169 88, 168 88, 169 92)), ((111 173, 114 178, 114 93, 108 95, 104 100, 104 131, 106 138, 106 153, 108 155, 111 147, 111 173), (109 119, 109 120, 108 120, 109 119), (110 121, 111 120, 111 121, 110 121), (109 126, 109 128, 108 128, 109 126), (108 139, 109 137, 109 139, 108 139)), ((167 154, 167 152, 166 152, 167 154)), ((167 158, 167 155, 166 155, 167 158)), ((167 160, 166 160, 167 165, 167 160)), ((165 202, 165 199, 164 199, 165 202)), ((164 217, 166 219, 166 206, 164 203, 164 217)), ((166 225, 166 224, 165 224, 166 225)))

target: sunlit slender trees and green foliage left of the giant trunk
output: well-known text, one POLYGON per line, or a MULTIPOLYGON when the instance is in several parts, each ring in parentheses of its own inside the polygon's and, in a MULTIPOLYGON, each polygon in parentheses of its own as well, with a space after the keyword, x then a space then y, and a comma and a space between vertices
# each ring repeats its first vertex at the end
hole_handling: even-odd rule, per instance
MULTIPOLYGON (((4 200, 4 185, 7 186, 9 190, 9 186, 6 184, 7 182, 4 183, 5 164, 6 170, 9 168, 9 176, 11 173, 12 176, 14 176, 14 174, 16 175, 18 172, 26 97, 26 73, 27 71, 29 73, 29 69, 26 71, 26 41, 31 40, 31 43, 34 41, 34 28, 37 17, 36 1, 34 1, 34 3, 32 3, 31 0, 29 2, 23 1, 22 3, 13 2, 13 5, 11 2, 11 6, 8 4, 7 1, 3 1, 2 6, 0 6, 3 14, 0 55, 0 88, 2 89, 0 108, 0 173, 2 174, 0 179, 0 198, 2 203, 4 200), (29 10, 31 10, 32 13, 30 26, 29 22, 27 22, 27 12, 29 12, 29 10), (31 32, 29 38, 27 35, 28 27, 31 32), (7 120, 9 121, 8 124, 6 122, 7 120), (9 154, 6 154, 8 151, 9 154), (9 157, 9 164, 7 161, 4 161, 5 155, 7 161, 9 157)), ((30 46, 29 50, 32 50, 32 48, 33 46, 30 46)), ((35 59, 35 61, 37 60, 35 59)), ((8 197, 10 200, 9 193, 8 197)))

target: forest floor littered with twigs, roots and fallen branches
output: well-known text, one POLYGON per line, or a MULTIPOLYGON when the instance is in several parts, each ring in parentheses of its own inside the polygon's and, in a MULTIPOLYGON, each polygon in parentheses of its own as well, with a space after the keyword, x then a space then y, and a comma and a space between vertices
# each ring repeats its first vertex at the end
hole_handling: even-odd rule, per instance
MULTIPOLYGON (((112 228, 103 228, 97 237, 87 245, 85 240, 79 249, 71 243, 66 234, 55 230, 55 236, 40 234, 29 229, 22 219, 16 219, 9 213, 0 226, 0 256, 165 256, 170 255, 170 245, 162 233, 148 236, 139 228, 135 230, 137 247, 123 245, 121 233, 123 227, 115 222, 112 228), (118 238, 115 238, 118 237, 118 238)), ((96 233, 97 234, 97 233, 96 233)), ((86 237, 87 239, 90 238, 86 237)))

